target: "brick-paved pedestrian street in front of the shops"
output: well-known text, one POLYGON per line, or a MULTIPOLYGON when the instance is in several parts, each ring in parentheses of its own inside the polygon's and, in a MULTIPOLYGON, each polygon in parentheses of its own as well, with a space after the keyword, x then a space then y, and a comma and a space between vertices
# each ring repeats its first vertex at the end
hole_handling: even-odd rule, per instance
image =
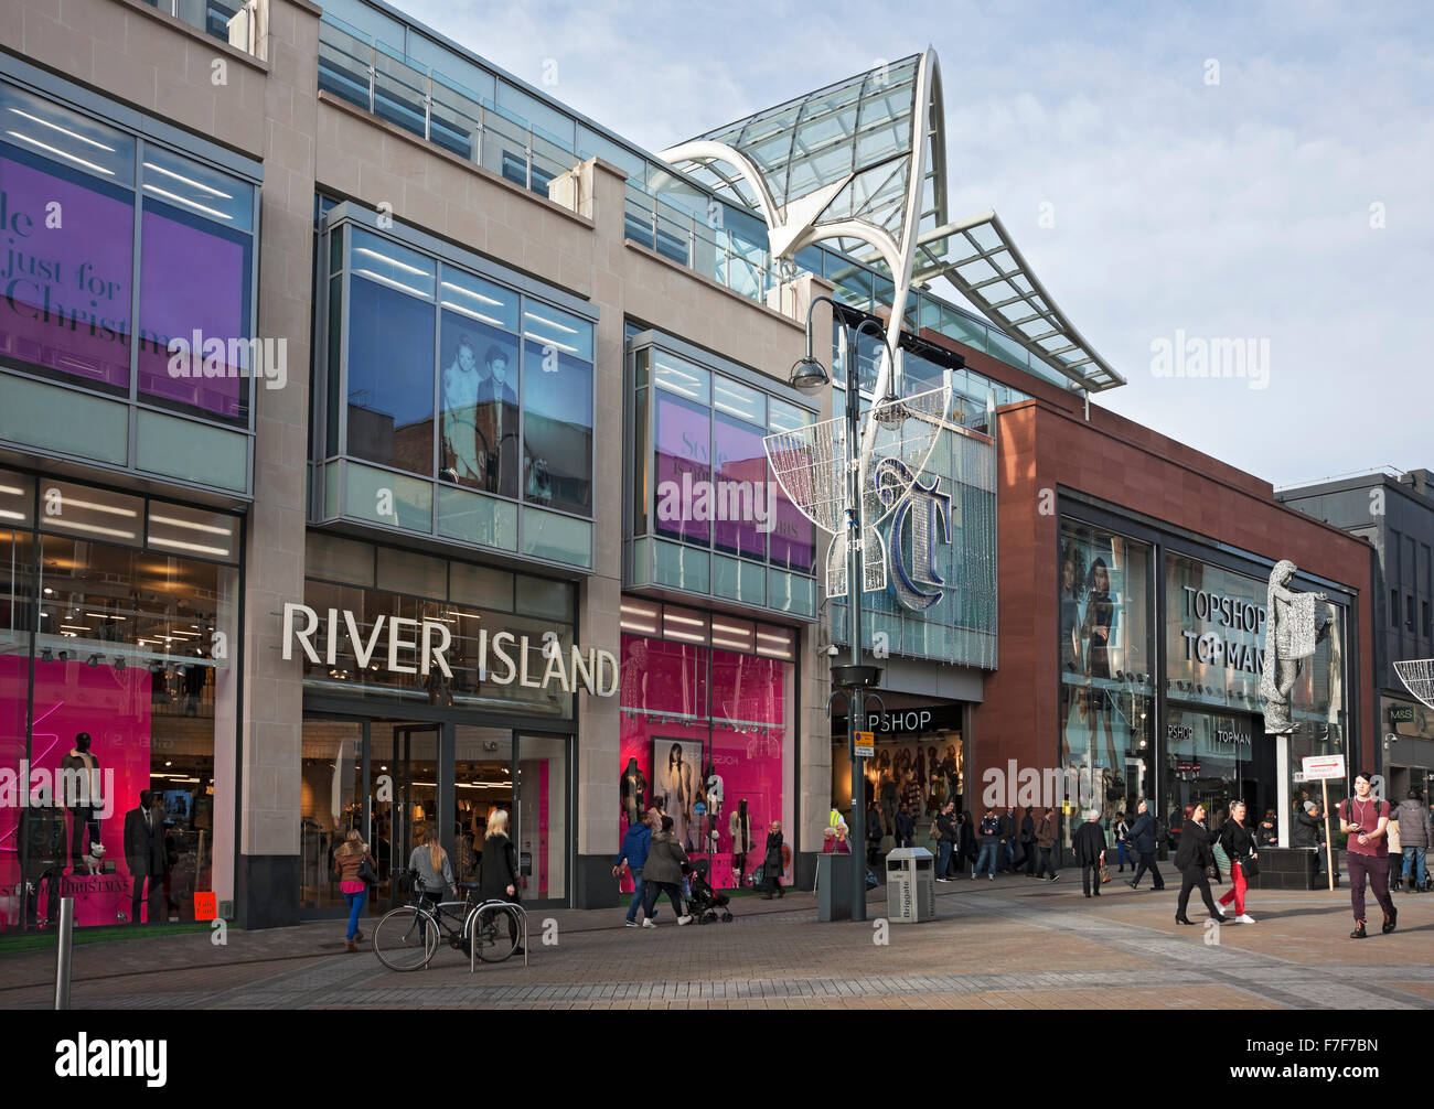
MULTIPOLYGON (((1174 924, 1174 890, 1098 900, 1064 871, 941 884, 928 924, 820 924, 810 894, 737 898, 731 924, 624 928, 621 910, 535 914, 531 964, 442 949, 424 971, 343 951, 340 923, 75 949, 73 1004, 95 1009, 1434 1009, 1434 894, 1400 927, 1348 937, 1349 896, 1250 891, 1256 924, 1174 924), (546 938, 551 943, 545 943, 546 938)), ((1117 875, 1119 877, 1119 875, 1117 875)), ((1228 887, 1226 887, 1228 888, 1228 887)), ((1219 893, 1219 890, 1217 890, 1219 893)), ((1372 901, 1371 901, 1372 906, 1372 901)), ((873 897, 870 916, 885 907, 873 897)), ((1378 914, 1375 913, 1378 920, 1378 914)), ((0 957, 0 1007, 43 1009, 53 953, 0 957)))

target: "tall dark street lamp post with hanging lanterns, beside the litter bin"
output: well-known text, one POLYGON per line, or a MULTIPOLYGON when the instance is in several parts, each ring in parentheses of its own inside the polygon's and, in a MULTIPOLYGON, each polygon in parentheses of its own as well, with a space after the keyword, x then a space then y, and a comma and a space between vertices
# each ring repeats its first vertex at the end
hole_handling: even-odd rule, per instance
MULTIPOLYGON (((806 327, 806 357, 792 367, 790 384, 803 393, 817 393, 832 384, 826 368, 813 354, 812 311, 817 304, 826 301, 832 309, 839 312, 840 305, 830 297, 813 297, 807 307, 806 327)), ((842 324, 843 330, 846 324, 842 324)), ((856 325, 858 338, 865 328, 876 332, 882 344, 889 365, 895 373, 896 360, 892 354, 886 337, 872 320, 862 320, 856 325)), ((860 847, 866 841, 866 761, 856 754, 856 732, 859 716, 865 712, 865 691, 880 681, 880 668, 862 663, 862 471, 860 441, 862 441, 862 394, 860 373, 858 368, 856 344, 849 344, 846 357, 846 443, 847 443, 847 473, 846 473, 846 612, 847 612, 847 640, 850 642, 850 662, 839 665, 836 656, 832 659, 832 683, 846 693, 846 749, 852 758, 852 888, 850 910, 852 920, 866 920, 866 853, 860 847)), ((896 394, 891 377, 886 383, 886 394, 876 403, 875 411, 882 411, 879 405, 888 405, 886 411, 899 411, 895 404, 896 394)))

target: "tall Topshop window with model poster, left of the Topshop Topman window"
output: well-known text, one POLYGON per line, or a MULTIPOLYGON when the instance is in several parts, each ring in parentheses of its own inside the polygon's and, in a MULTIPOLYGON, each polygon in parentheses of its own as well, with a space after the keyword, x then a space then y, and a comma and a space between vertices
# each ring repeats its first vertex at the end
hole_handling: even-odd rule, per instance
MULTIPOLYGON (((1110 831, 1153 795, 1154 559, 1149 543, 1061 520, 1058 765, 1073 815, 1101 810, 1110 831)), ((1057 808, 1060 798, 1055 798, 1057 808)))

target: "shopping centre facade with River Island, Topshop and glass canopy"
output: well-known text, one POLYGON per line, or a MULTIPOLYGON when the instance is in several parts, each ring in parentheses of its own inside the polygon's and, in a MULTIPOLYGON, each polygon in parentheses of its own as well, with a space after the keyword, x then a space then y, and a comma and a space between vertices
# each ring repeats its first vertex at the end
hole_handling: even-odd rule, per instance
POLYGON ((529 903, 601 907, 658 797, 718 885, 771 821, 809 883, 847 606, 763 450, 843 407, 789 384, 809 309, 837 381, 885 391, 885 330, 951 388, 862 600, 879 808, 1014 761, 1288 811, 1291 759, 1375 757, 1368 546, 1090 403, 1119 374, 946 213, 934 52, 654 156, 373 0, 23 0, 0 47, 0 928, 331 916, 354 827, 381 906, 495 808, 529 903), (1288 749, 1282 557, 1332 620, 1288 749), (30 788, 65 767, 102 797, 30 788))

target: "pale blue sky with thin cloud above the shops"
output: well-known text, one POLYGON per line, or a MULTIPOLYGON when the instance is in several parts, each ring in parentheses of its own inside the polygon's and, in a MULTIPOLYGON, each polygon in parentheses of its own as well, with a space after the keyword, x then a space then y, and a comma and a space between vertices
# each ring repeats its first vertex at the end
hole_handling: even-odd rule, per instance
POLYGON ((397 6, 654 152, 929 44, 949 215, 999 213, 1129 381, 1094 403, 1276 486, 1434 469, 1418 4, 397 6))

